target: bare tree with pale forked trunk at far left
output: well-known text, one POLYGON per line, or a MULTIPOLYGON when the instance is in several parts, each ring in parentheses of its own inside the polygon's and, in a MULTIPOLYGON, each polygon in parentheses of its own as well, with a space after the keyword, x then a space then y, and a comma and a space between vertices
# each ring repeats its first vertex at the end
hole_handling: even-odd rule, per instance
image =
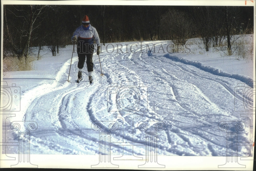
POLYGON ((40 25, 40 23, 36 24, 36 21, 45 7, 46 5, 12 5, 8 7, 4 5, 7 40, 13 47, 13 53, 19 58, 25 56, 25 61, 28 57, 33 32, 40 25))

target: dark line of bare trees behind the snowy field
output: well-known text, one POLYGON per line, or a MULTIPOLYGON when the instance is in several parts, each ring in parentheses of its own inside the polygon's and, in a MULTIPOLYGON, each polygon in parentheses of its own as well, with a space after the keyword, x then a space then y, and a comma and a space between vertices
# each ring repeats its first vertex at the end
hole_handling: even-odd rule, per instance
MULTIPOLYGON (((200 37, 209 51, 232 35, 253 32, 253 7, 4 5, 3 57, 27 58, 31 47, 48 46, 52 55, 71 44, 84 15, 101 43, 172 40, 185 44, 200 37)), ((39 52, 38 52, 39 55, 39 52)), ((231 55, 231 53, 229 53, 231 55)))

